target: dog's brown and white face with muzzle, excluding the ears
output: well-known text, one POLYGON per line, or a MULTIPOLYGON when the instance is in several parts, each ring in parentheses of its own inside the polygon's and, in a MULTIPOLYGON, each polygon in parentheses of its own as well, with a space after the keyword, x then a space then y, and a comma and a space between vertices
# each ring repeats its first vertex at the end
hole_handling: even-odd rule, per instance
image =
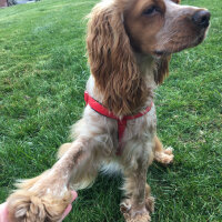
POLYGON ((195 47, 205 37, 210 12, 174 0, 134 0, 124 11, 124 27, 134 50, 168 56, 195 47))

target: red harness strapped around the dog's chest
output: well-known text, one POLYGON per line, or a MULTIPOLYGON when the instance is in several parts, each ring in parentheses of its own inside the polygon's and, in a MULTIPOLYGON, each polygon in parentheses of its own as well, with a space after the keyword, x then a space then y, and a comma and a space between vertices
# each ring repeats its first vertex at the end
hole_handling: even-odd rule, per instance
POLYGON ((85 91, 84 92, 84 101, 87 104, 89 104, 95 112, 107 117, 107 118, 111 118, 118 121, 118 140, 119 140, 119 147, 117 150, 117 155, 121 155, 122 153, 122 138, 127 128, 127 122, 128 120, 133 120, 137 118, 140 118, 144 114, 147 114, 151 108, 152 104, 150 107, 148 107, 144 111, 139 112, 138 114, 134 115, 124 115, 122 119, 118 118, 117 115, 114 115, 112 112, 110 112, 107 108, 104 108, 100 102, 98 102, 97 100, 94 100, 93 98, 91 98, 89 95, 89 93, 85 91))

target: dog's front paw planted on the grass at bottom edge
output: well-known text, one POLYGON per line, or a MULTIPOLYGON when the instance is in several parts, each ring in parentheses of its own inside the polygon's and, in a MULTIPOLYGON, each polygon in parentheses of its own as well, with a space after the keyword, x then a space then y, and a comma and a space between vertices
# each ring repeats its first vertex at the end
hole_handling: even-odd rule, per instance
POLYGON ((120 204, 120 211, 122 212, 125 222, 150 222, 150 213, 147 205, 143 208, 135 208, 132 205, 130 199, 124 200, 120 204))

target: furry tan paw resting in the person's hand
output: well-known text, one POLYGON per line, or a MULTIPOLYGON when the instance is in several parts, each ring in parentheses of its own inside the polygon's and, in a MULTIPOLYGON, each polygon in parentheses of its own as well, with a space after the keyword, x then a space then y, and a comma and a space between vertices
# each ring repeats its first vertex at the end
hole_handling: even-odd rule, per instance
POLYGON ((17 191, 8 199, 10 222, 56 222, 69 203, 69 195, 62 199, 52 195, 38 196, 29 191, 17 191))

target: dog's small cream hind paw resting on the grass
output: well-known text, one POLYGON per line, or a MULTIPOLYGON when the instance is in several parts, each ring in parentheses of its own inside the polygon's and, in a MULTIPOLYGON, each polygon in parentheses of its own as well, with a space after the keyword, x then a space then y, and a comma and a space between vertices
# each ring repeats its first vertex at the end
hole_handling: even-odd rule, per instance
POLYGON ((173 149, 171 147, 154 153, 154 159, 164 165, 171 164, 173 162, 173 149))

